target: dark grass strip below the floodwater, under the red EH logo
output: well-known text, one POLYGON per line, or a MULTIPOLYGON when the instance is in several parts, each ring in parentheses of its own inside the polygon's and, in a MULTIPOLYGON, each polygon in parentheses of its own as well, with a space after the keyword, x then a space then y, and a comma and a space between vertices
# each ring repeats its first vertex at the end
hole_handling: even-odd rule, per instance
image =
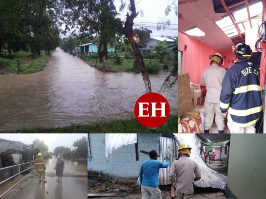
POLYGON ((72 124, 58 128, 21 128, 2 130, 0 133, 177 133, 178 115, 170 115, 168 120, 156 129, 142 126, 135 117, 130 119, 112 119, 97 121, 90 124, 72 124))

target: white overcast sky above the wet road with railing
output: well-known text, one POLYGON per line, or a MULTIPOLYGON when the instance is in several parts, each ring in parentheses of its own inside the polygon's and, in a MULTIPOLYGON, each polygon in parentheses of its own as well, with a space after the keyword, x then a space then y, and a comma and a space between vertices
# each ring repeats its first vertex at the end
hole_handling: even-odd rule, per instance
POLYGON ((32 144, 33 140, 39 138, 43 140, 45 144, 49 147, 49 151, 53 152, 57 146, 68 147, 71 150, 74 149, 72 146, 73 141, 80 139, 85 136, 87 138, 88 134, 75 134, 75 133, 0 133, 0 138, 11 141, 20 141, 24 144, 32 144))

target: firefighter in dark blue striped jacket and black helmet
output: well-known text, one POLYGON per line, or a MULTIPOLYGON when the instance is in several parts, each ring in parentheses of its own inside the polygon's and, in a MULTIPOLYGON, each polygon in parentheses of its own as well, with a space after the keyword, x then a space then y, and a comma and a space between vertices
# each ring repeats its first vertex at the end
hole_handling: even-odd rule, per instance
POLYGON ((220 109, 228 112, 231 133, 255 133, 255 124, 263 112, 260 69, 251 63, 252 50, 246 43, 239 43, 233 52, 237 62, 223 80, 220 109))

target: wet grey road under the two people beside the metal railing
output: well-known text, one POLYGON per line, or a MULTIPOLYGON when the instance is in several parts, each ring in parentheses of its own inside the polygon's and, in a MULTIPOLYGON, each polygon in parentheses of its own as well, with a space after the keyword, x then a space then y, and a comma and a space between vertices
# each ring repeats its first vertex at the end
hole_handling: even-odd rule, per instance
POLYGON ((87 166, 64 160, 65 172, 62 183, 57 183, 55 170, 56 163, 53 157, 46 161, 46 181, 39 183, 37 176, 29 178, 21 184, 8 199, 86 199, 87 198, 87 166))

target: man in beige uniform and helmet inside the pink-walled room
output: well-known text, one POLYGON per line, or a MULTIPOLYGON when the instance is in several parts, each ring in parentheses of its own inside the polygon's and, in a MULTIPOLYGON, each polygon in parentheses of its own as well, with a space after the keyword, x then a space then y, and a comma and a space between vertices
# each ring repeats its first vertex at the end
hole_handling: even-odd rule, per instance
POLYGON ((204 103, 204 133, 209 133, 209 129, 213 123, 214 113, 219 133, 224 133, 225 116, 220 110, 219 102, 222 82, 225 77, 226 70, 220 67, 224 62, 222 55, 215 53, 210 55, 209 58, 211 60, 211 66, 206 68, 201 75, 201 83, 206 85, 207 90, 204 103))

